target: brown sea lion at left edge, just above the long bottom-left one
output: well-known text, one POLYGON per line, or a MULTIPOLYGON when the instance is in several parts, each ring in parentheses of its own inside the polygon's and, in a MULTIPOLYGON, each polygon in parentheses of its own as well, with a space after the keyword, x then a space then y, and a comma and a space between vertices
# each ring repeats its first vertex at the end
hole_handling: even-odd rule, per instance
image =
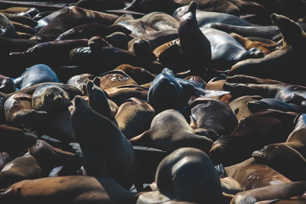
POLYGON ((6 164, 0 172, 0 188, 7 188, 23 180, 34 180, 43 177, 43 173, 31 155, 18 157, 6 164))

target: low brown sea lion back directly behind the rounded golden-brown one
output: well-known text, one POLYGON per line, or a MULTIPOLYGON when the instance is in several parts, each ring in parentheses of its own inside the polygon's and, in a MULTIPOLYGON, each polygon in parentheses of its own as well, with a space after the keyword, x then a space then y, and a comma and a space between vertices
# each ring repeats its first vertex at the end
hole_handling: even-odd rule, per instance
POLYGON ((138 98, 140 100, 147 100, 148 88, 135 85, 125 85, 116 88, 110 88, 105 90, 110 99, 114 101, 117 106, 121 106, 129 98, 138 98))

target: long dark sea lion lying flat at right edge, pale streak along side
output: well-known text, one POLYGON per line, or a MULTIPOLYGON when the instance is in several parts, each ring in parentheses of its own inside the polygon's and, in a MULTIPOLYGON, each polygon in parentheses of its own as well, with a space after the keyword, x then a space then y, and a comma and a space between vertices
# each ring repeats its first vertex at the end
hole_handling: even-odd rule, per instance
POLYGON ((297 101, 303 101, 301 99, 296 101, 297 97, 306 97, 306 87, 285 84, 275 80, 237 74, 234 77, 227 77, 226 82, 223 85, 223 90, 231 91, 232 99, 245 95, 260 95, 263 98, 276 98, 289 104, 295 104, 297 101))

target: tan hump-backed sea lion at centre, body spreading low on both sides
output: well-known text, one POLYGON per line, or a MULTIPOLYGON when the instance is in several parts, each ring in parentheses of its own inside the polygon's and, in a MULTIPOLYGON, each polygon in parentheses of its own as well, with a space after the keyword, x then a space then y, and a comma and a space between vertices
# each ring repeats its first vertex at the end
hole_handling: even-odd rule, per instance
POLYGON ((194 147, 209 152, 213 143, 205 136, 195 135, 181 112, 173 109, 156 115, 150 129, 130 141, 133 145, 154 147, 169 152, 181 147, 194 147))

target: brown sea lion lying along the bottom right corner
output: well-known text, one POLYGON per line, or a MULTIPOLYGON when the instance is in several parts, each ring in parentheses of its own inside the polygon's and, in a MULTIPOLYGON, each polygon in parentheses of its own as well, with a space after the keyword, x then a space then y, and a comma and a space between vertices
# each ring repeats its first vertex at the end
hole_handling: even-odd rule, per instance
POLYGON ((261 200, 288 199, 293 196, 301 196, 305 192, 305 189, 306 182, 292 182, 289 184, 267 186, 240 192, 233 198, 231 204, 253 204, 261 200))

